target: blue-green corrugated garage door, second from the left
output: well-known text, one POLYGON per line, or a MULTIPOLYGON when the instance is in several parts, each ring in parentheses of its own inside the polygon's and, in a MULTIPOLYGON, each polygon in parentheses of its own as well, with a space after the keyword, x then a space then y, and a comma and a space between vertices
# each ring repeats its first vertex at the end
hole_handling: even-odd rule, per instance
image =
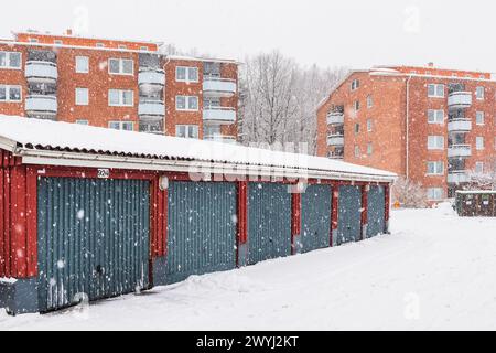
POLYGON ((236 268, 236 184, 172 182, 166 282, 236 268))

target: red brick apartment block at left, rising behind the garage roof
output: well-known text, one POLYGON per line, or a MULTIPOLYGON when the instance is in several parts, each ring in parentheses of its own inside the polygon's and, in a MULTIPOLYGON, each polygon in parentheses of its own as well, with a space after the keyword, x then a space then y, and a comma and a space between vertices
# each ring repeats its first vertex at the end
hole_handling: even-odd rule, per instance
POLYGON ((238 63, 160 43, 14 33, 0 40, 0 114, 236 142, 238 63))

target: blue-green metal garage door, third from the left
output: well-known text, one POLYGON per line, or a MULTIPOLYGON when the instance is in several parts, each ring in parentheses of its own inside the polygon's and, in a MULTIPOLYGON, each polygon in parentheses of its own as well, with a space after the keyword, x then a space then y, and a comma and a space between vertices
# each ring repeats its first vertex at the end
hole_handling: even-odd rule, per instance
POLYGON ((248 185, 249 264, 291 255, 291 194, 288 186, 248 185))

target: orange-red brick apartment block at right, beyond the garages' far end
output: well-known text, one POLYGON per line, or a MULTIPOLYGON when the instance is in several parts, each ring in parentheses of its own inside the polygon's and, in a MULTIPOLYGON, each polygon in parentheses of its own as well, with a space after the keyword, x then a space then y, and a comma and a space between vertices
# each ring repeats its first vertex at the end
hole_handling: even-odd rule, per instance
POLYGON ((317 153, 419 182, 450 197, 496 157, 496 76, 425 67, 353 71, 317 110, 317 153))

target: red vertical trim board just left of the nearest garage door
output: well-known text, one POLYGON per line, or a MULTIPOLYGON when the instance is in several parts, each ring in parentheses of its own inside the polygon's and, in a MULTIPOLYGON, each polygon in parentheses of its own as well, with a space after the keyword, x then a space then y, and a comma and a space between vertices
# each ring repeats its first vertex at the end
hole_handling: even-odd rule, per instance
POLYGON ((26 265, 28 277, 37 276, 37 175, 26 170, 26 265))

